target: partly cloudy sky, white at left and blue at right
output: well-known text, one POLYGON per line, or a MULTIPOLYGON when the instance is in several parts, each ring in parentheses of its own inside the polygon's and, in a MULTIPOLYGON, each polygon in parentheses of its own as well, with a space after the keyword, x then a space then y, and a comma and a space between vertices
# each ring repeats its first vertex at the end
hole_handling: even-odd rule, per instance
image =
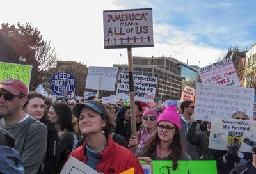
POLYGON ((256 42, 254 0, 0 1, 1 23, 29 22, 51 41, 58 59, 89 66, 127 63, 127 49, 104 49, 103 10, 153 9, 154 47, 134 48, 132 56, 172 55, 204 67, 225 56, 230 45, 250 49, 256 42))

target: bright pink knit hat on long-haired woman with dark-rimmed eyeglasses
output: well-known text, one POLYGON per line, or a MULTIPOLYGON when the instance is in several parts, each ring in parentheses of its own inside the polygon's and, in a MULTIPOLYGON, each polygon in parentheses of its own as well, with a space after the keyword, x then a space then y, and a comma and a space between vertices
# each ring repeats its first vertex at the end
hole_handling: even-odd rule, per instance
POLYGON ((171 104, 166 107, 164 112, 158 117, 157 124, 162 121, 173 123, 180 131, 180 117, 177 113, 177 107, 175 104, 171 104))

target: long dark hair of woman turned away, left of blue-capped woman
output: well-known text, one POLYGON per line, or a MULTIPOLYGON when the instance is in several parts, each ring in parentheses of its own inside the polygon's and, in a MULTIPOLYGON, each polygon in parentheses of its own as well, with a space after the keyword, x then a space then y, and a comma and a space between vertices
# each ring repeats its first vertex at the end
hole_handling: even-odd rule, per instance
POLYGON ((74 132, 72 123, 72 111, 67 103, 65 102, 55 102, 51 105, 54 108, 55 113, 59 117, 59 123, 61 125, 61 130, 65 128, 68 131, 74 132))

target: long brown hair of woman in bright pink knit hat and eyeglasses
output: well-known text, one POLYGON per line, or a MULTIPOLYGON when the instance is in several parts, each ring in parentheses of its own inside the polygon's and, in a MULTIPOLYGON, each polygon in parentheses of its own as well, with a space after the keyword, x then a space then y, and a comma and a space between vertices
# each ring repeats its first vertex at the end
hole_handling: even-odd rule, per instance
MULTIPOLYGON (((158 136, 158 132, 154 134, 149 140, 147 145, 145 145, 145 148, 143 152, 141 153, 141 157, 150 157, 154 153, 156 153, 156 146, 160 143, 160 138, 158 136)), ((184 147, 182 145, 182 137, 180 136, 179 129, 175 129, 175 134, 172 140, 172 143, 170 143, 169 148, 172 152, 170 155, 170 158, 173 161, 172 168, 173 170, 176 170, 178 167, 178 160, 182 159, 184 157, 184 147)))

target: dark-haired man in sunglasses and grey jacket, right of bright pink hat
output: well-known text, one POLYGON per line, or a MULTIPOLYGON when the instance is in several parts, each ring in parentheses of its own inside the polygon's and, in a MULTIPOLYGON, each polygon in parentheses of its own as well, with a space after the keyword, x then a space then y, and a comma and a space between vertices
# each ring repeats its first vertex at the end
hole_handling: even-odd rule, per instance
MULTIPOLYGON (((180 123, 181 123, 181 135, 184 143, 186 144, 186 152, 191 156, 192 159, 198 159, 198 152, 196 150, 196 146, 189 143, 186 139, 186 134, 189 130, 189 127, 192 125, 191 115, 194 112, 194 104, 192 101, 184 101, 180 105, 180 109, 182 115, 180 116, 180 123)), ((200 125, 199 123, 196 125, 196 132, 200 132, 200 125)))

